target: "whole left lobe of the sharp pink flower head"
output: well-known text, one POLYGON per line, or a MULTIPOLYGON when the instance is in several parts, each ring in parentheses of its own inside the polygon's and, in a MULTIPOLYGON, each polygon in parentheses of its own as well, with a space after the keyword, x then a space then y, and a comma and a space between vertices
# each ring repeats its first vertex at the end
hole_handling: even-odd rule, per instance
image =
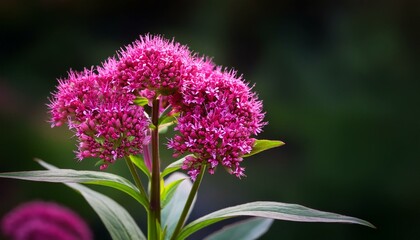
POLYGON ((148 121, 132 94, 121 91, 112 69, 70 72, 49 104, 52 126, 67 123, 78 138, 77 158, 101 158, 105 169, 116 159, 139 154, 148 140, 148 121))

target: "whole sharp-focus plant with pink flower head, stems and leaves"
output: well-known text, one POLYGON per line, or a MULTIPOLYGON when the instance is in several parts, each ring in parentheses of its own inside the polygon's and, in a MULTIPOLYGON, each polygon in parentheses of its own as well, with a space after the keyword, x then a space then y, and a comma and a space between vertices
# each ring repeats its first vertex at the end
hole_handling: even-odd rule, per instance
POLYGON ((101 66, 70 71, 66 79, 59 80, 48 106, 52 127, 67 124, 78 138, 79 160, 99 158, 99 168, 105 170, 123 159, 134 184, 116 174, 58 169, 41 160, 38 162, 47 170, 0 176, 65 183, 82 194, 113 239, 146 237, 121 205, 80 183, 115 188, 137 200, 147 212, 147 239, 153 240, 185 239, 237 216, 256 218, 207 239, 226 239, 231 234, 257 238, 268 230, 272 219, 373 227, 361 219, 279 202, 233 206, 186 225, 206 172, 215 174, 224 168, 244 177, 244 158, 284 143, 255 138, 267 123, 262 102, 242 77, 161 36, 142 36, 101 66), (171 126, 175 134, 166 147, 180 159, 161 170, 159 135, 171 126))

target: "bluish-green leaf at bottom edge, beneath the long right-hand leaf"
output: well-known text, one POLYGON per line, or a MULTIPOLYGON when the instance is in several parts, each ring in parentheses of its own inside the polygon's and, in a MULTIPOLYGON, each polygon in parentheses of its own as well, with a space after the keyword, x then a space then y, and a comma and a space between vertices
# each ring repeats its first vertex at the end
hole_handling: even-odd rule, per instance
POLYGON ((270 229, 273 219, 250 218, 228 225, 207 236, 204 240, 254 240, 261 237, 270 229))

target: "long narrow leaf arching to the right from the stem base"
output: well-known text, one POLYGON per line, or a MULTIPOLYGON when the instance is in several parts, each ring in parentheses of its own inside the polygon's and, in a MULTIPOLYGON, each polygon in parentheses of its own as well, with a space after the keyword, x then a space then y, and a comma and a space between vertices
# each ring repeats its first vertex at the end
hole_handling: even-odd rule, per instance
POLYGON ((348 217, 336 213, 322 212, 297 204, 252 202, 221 209, 201 217, 185 226, 177 239, 185 239, 192 233, 204 227, 224 219, 238 216, 254 216, 296 222, 356 223, 374 228, 371 223, 358 218, 348 217))

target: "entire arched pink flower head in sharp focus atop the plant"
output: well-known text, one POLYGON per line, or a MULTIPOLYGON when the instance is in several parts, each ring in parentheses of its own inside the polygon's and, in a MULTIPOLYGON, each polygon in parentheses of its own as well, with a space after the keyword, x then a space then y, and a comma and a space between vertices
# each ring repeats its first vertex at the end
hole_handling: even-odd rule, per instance
POLYGON ((139 96, 179 113, 168 147, 175 157, 192 154, 183 169, 193 179, 202 165, 211 174, 221 165, 244 176, 242 157, 265 125, 261 101, 235 72, 160 36, 140 37, 102 66, 60 80, 49 105, 52 125, 67 122, 79 138, 78 158, 101 158, 105 168, 147 146, 150 120, 133 104, 139 96))

